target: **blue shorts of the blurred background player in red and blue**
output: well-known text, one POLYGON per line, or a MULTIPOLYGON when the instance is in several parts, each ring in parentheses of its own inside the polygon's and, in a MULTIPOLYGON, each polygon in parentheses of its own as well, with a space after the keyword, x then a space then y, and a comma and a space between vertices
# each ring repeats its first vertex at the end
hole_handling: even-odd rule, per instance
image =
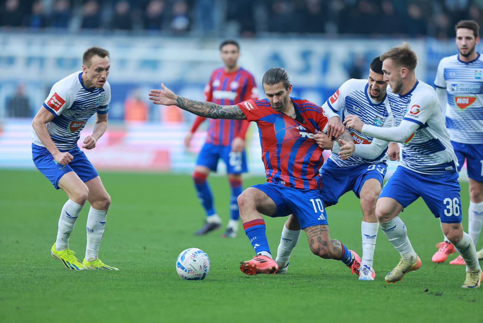
POLYGON ((232 152, 231 146, 204 144, 199 152, 196 164, 206 166, 213 172, 216 172, 220 158, 227 165, 228 174, 240 174, 248 171, 245 150, 242 152, 232 152))

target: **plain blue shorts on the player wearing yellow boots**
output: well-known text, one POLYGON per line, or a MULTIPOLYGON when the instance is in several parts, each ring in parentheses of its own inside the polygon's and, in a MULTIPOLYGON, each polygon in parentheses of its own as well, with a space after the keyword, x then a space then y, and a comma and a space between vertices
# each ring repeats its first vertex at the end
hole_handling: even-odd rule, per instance
POLYGON ((94 166, 92 166, 92 163, 89 162, 85 153, 79 147, 60 151, 69 151, 74 157, 72 162, 62 166, 54 161, 52 154, 47 148, 32 144, 32 159, 35 167, 37 167, 37 169, 50 180, 56 190, 59 189, 58 184, 60 177, 65 173, 74 171, 83 182, 99 176, 94 166))

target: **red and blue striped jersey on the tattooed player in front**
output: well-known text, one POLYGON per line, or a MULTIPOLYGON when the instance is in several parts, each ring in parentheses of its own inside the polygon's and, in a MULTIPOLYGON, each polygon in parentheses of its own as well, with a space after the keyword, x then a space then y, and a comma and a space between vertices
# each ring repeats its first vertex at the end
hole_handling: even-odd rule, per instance
POLYGON ((262 161, 269 183, 299 189, 321 189, 319 169, 324 163, 322 149, 313 139, 325 131, 327 117, 322 108, 310 101, 290 98, 304 122, 276 112, 265 100, 237 104, 248 121, 255 121, 262 146, 262 161))

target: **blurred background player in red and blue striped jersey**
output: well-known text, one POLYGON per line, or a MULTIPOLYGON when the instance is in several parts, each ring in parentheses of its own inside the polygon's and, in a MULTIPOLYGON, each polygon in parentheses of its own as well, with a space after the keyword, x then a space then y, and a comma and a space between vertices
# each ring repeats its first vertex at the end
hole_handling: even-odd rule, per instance
MULTIPOLYGON (((234 40, 220 44, 220 57, 224 67, 213 71, 205 87, 205 100, 220 105, 233 105, 250 99, 258 99, 253 75, 238 66, 240 46, 234 40)), ((185 137, 185 146, 189 147, 193 133, 198 129, 204 117, 196 117, 190 132, 185 137)), ((241 173, 247 172, 245 155, 245 134, 250 123, 246 120, 210 119, 206 143, 199 152, 193 180, 201 205, 206 212, 206 222, 195 232, 205 235, 221 226, 221 219, 213 205, 213 194, 206 178, 210 171, 216 172, 218 160, 227 165, 228 182, 231 188, 230 220, 223 236, 235 237, 238 231, 237 198, 241 194, 241 173)))

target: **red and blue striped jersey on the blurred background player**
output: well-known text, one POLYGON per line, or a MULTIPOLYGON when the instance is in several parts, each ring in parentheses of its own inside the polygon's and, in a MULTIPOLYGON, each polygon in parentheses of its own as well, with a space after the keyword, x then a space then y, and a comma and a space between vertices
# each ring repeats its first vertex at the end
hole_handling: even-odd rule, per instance
MULTIPOLYGON (((242 101, 258 99, 255 78, 243 68, 231 73, 225 72, 224 68, 214 70, 206 84, 204 94, 205 101, 220 105, 234 105, 242 101)), ((203 120, 203 117, 197 117, 191 132, 195 132, 203 120)), ((235 137, 244 139, 248 129, 248 121, 245 120, 209 119, 209 122, 206 143, 217 146, 230 146, 235 137)))

